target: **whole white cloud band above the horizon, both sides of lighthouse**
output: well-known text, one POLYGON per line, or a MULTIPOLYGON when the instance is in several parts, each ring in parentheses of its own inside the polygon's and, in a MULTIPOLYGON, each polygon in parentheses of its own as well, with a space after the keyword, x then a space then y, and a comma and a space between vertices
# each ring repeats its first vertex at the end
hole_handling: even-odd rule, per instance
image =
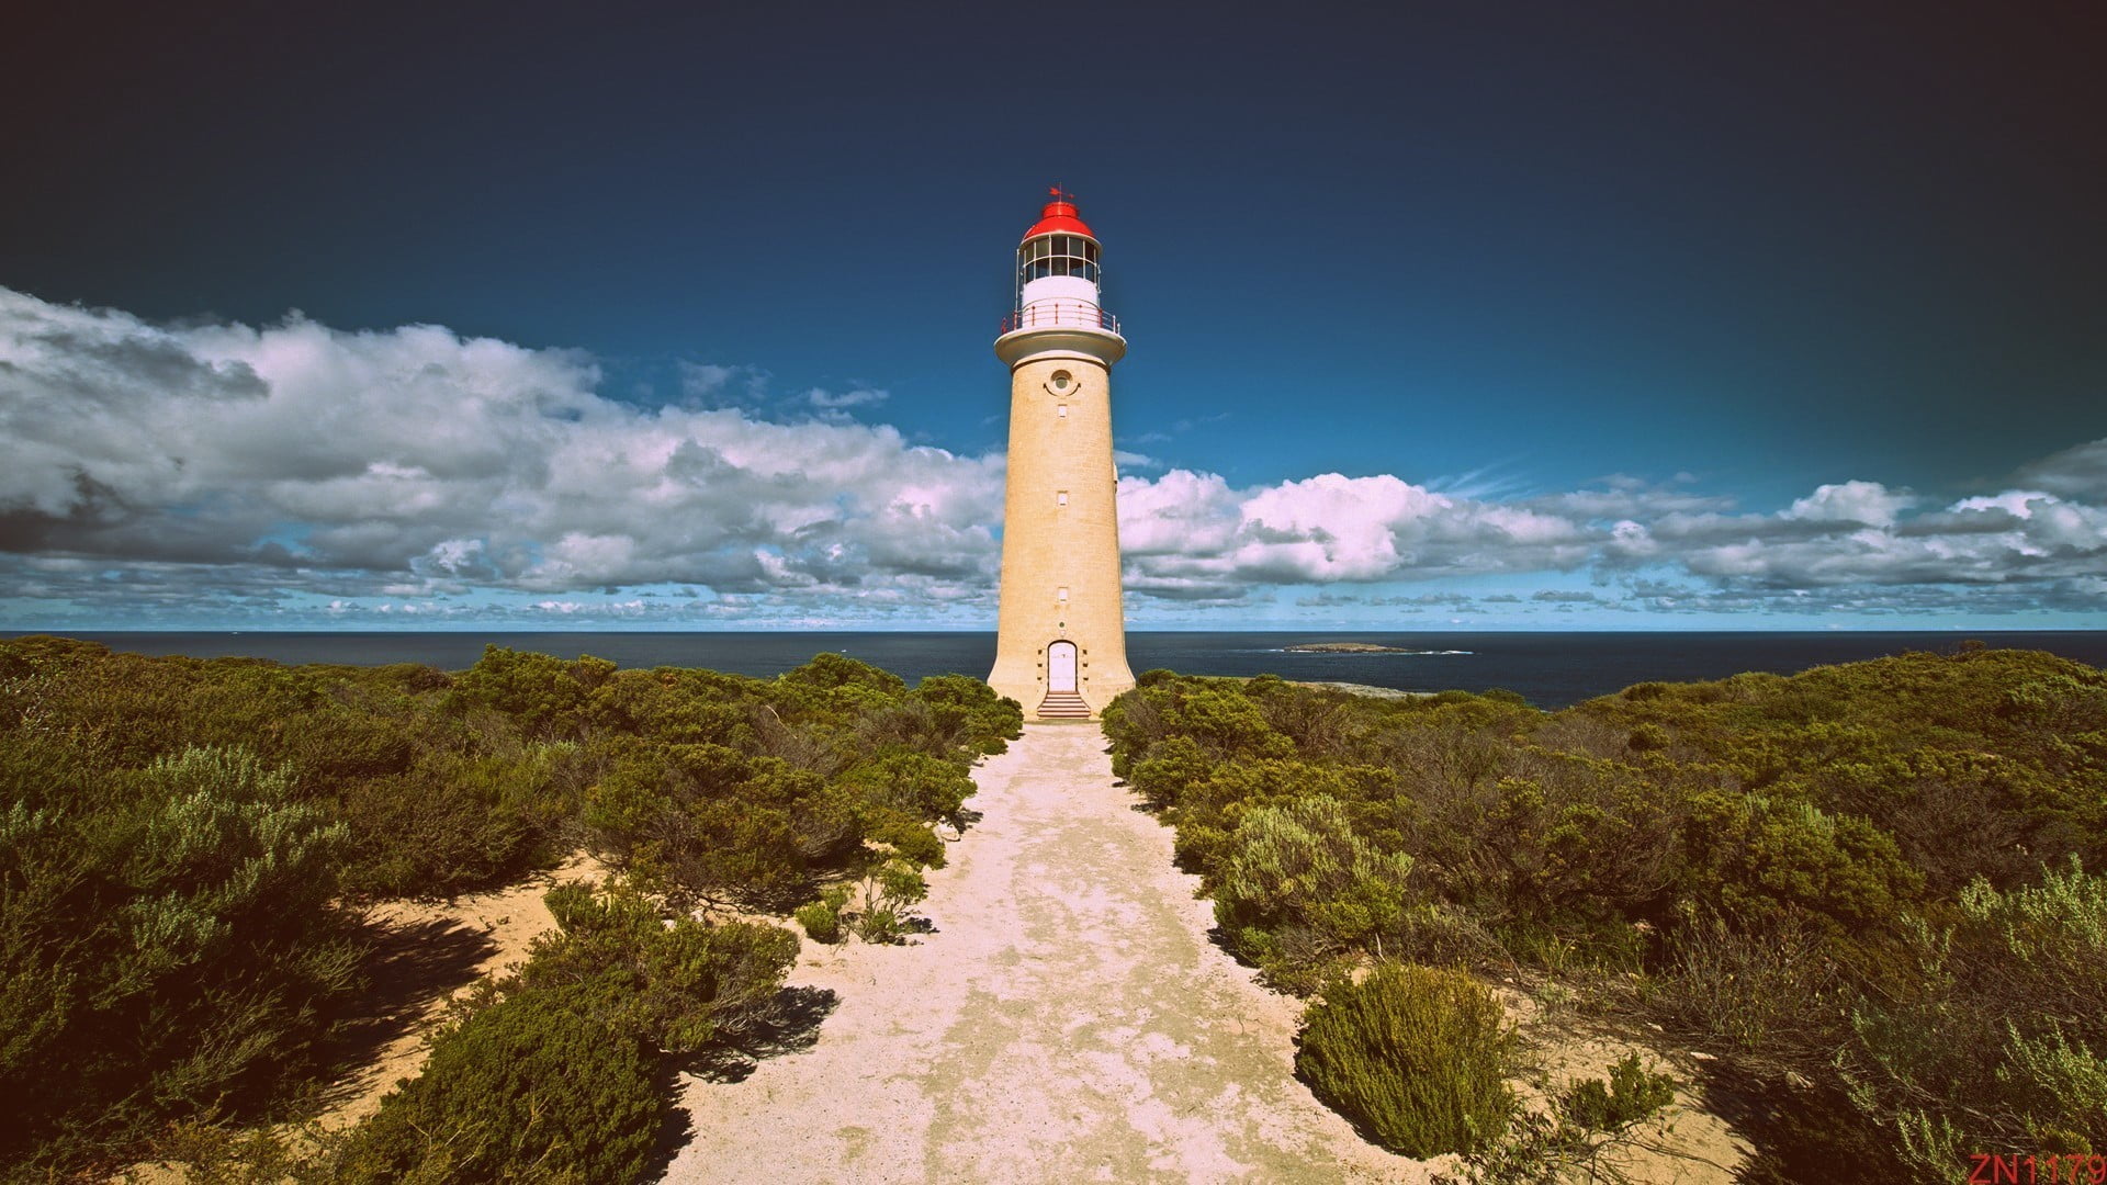
MULTIPOLYGON (((1001 453, 858 420, 887 401, 868 386, 681 377, 638 407, 573 350, 0 289, 0 628, 992 624, 1001 453)), ((1681 472, 1490 498, 1146 468, 1119 487, 1136 624, 2107 622, 2107 441, 1993 487, 1850 477, 1776 510, 1681 472)))

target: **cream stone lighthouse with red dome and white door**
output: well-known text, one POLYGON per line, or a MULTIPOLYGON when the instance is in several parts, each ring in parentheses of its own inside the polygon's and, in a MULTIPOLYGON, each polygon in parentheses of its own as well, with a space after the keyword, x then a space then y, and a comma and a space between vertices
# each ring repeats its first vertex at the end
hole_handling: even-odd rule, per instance
POLYGON ((1098 236, 1054 200, 1018 245, 1018 302, 995 339, 1009 365, 1003 592, 988 683, 1026 719, 1096 719, 1134 687, 1119 590, 1112 363, 1098 236))

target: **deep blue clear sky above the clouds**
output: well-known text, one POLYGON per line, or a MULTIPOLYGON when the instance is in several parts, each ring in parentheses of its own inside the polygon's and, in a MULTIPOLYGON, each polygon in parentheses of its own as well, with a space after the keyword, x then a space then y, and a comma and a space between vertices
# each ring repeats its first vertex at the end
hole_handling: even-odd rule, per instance
POLYGON ((643 407, 872 388, 982 455, 1062 181, 1129 472, 1936 510, 2107 436, 2096 4, 301 8, 11 17, 0 285, 573 348, 643 407))

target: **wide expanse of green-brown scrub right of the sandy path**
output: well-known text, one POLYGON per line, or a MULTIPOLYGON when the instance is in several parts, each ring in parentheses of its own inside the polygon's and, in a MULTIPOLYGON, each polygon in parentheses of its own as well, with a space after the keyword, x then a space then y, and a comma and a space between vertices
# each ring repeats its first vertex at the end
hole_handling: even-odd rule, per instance
MULTIPOLYGON (((1787 1179, 2107 1151, 2107 673, 1966 645, 1542 713, 1153 671, 1106 734, 1311 1031, 1370 966, 1464 966, 1711 1054, 1787 1179)), ((1627 1122, 1601 1090, 1509 1143, 1627 1122)))

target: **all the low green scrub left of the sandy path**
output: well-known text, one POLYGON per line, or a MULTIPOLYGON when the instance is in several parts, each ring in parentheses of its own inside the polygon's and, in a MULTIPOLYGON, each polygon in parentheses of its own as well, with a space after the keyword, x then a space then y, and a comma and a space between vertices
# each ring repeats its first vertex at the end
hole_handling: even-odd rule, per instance
MULTIPOLYGON (((978 679, 906 687, 836 654, 744 679, 504 647, 442 673, 0 641, 0 1177, 116 1166, 171 1124, 206 1147, 200 1120, 301 1115, 365 991, 360 905, 493 888, 586 848, 626 888, 558 890, 563 934, 451 1023, 432 1084, 383 1128, 480 1124, 447 1155, 516 1151, 546 1122, 520 1115, 586 1107, 577 1130, 615 1160, 575 1179, 622 1179, 603 1170, 662 1113, 638 1075, 735 1033, 794 953, 786 928, 685 919, 870 886, 891 917, 866 909, 860 932, 895 936, 944 860, 938 829, 969 818, 971 761, 1020 727, 978 679), (537 1044, 558 1031, 626 1033, 594 1046, 592 1099, 504 1086, 563 1061, 537 1044), (474 1099, 491 1111, 457 1113, 474 1099)), ((474 1179, 360 1141, 392 1149, 369 1158, 394 1166, 381 1177, 474 1179)))

